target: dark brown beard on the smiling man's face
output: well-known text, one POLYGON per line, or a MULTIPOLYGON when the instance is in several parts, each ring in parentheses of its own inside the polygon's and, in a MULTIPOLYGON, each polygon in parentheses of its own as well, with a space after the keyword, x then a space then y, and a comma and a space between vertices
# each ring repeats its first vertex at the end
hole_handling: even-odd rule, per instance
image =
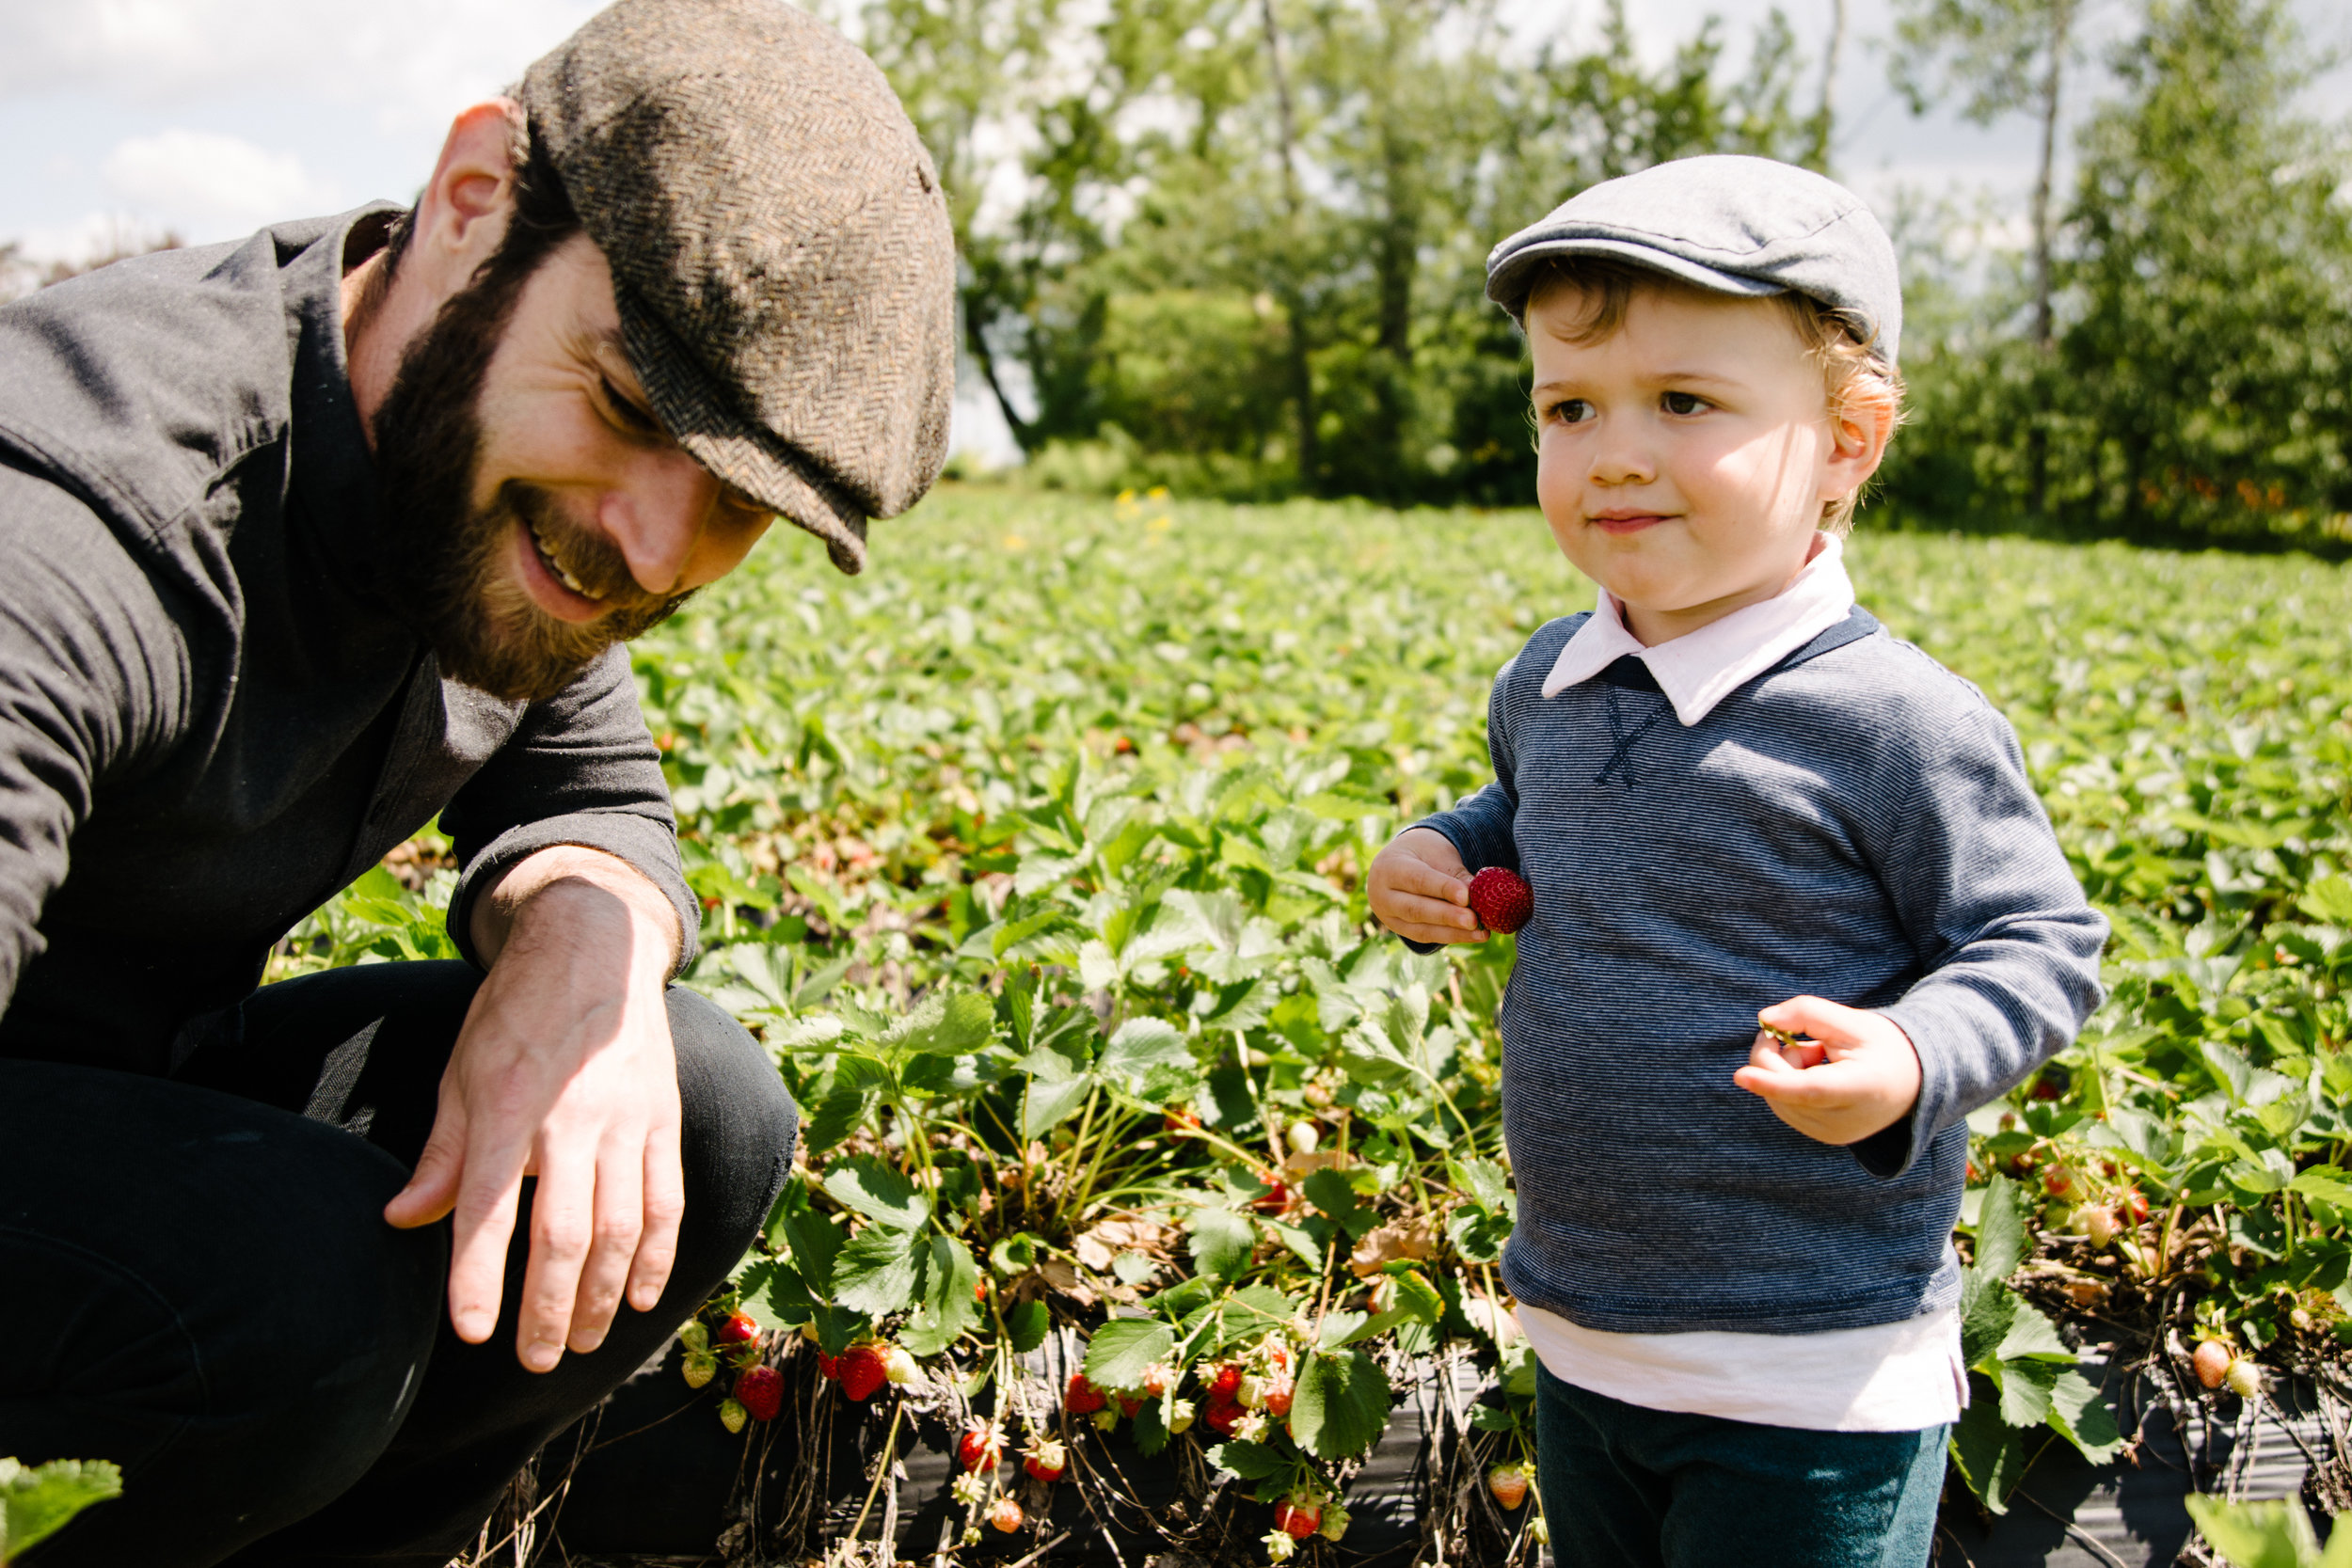
POLYGON ((374 425, 388 501, 379 559, 395 614, 419 630, 442 675, 524 703, 555 696, 597 654, 687 599, 637 588, 621 550, 574 527, 536 484, 508 480, 489 503, 473 503, 482 381, 522 287, 553 249, 543 233, 508 228, 499 252, 400 355, 374 425), (574 623, 539 609, 515 578, 517 527, 536 531, 607 611, 574 623))

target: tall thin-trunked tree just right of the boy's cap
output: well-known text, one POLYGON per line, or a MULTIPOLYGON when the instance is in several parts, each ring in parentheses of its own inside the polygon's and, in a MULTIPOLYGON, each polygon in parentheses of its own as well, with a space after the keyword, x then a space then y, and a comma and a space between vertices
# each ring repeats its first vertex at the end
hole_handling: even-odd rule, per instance
MULTIPOLYGON (((1962 115, 1992 125, 2032 108, 2042 150, 2032 190, 2032 343, 2046 360, 2056 346, 2051 179, 2058 158, 2058 110, 2067 68, 2079 59, 2074 24, 2082 0, 1896 0, 1893 82, 1915 115, 1945 96, 1962 115)), ((2046 404, 2046 400, 2044 400, 2046 404)), ((2049 409, 2027 430, 2027 508, 2046 510, 2049 409)))

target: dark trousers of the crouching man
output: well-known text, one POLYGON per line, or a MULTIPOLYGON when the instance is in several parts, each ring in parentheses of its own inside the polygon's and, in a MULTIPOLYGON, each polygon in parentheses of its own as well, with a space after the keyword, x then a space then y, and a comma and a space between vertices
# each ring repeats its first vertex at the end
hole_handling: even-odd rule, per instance
POLYGON ((524 1187, 499 1331, 449 1331, 449 1225, 381 1208, 477 983, 369 964, 270 985, 172 1079, 0 1060, 0 1455, 122 1467, 122 1497, 28 1568, 442 1568, 736 1265, 797 1114, 760 1044, 670 987, 687 1218, 661 1305, 522 1371, 524 1187))

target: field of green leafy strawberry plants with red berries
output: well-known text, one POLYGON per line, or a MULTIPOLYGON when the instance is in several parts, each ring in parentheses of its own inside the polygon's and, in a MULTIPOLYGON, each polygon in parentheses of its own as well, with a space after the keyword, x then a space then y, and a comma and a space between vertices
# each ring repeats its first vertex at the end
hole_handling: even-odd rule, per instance
MULTIPOLYGON (((1411 1406, 1385 1561, 1534 1561, 1510 940, 1416 959, 1362 867, 1484 780, 1496 665, 1590 590, 1534 512, 1000 489, 880 524, 875 559, 779 531, 637 654, 708 910, 689 983, 804 1110, 673 1356, 689 1420, 807 1443, 729 1549, 1040 1563, 1148 1514, 1120 1561, 1359 1561, 1350 1497, 1411 1406)), ((2331 1396, 2352 576, 1867 524, 1851 567, 2009 712, 2114 922, 2082 1044, 1971 1117, 1947 1509, 2004 1509, 2053 1446, 2129 1458, 2159 1406, 2331 1396)), ((447 884, 409 846, 280 973, 445 952, 447 884)))

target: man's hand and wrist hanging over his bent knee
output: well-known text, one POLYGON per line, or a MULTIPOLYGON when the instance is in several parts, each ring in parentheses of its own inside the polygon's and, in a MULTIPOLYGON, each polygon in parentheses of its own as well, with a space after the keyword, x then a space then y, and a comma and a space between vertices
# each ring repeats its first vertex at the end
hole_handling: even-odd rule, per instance
POLYGON ((534 1373, 604 1342, 623 1291, 649 1312, 670 1279, 684 1178, 663 985, 677 914, 635 867, 543 849, 475 900, 489 978, 442 1072, 433 1135, 383 1208, 400 1227, 456 1213, 449 1324, 499 1324, 522 1178, 536 1175, 515 1354, 534 1373))

